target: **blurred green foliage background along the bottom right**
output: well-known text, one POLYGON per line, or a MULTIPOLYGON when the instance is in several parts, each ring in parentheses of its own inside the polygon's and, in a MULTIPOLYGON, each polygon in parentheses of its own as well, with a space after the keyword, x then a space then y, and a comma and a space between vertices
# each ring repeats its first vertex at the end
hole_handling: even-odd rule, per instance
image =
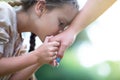
POLYGON ((120 80, 120 62, 106 63, 110 66, 110 74, 100 75, 98 69, 104 63, 85 68, 79 64, 74 54, 67 51, 59 67, 44 65, 36 72, 36 77, 38 80, 120 80))

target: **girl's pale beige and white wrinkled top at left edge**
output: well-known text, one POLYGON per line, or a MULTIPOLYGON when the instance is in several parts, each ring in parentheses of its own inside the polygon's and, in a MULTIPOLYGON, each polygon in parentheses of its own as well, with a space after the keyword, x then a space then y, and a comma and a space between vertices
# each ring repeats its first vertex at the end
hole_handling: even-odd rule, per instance
MULTIPOLYGON (((0 55, 18 56, 21 46, 22 38, 17 31, 16 12, 9 4, 0 1, 0 55)), ((0 77, 0 80, 8 80, 11 75, 0 77)))

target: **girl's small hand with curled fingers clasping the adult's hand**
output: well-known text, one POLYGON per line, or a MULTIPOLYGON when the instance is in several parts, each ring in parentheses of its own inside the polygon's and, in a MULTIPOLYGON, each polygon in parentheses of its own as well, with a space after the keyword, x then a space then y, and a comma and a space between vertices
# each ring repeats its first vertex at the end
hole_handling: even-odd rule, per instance
POLYGON ((50 38, 51 37, 46 37, 44 43, 34 51, 39 58, 40 64, 50 63, 56 59, 60 44, 57 41, 49 42, 50 38))

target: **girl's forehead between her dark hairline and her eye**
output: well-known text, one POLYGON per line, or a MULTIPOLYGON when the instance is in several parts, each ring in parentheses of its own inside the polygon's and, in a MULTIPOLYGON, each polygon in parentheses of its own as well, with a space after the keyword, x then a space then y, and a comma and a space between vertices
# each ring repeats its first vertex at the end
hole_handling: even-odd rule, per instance
POLYGON ((64 4, 62 7, 53 9, 52 12, 54 13, 54 16, 65 19, 70 23, 78 13, 78 9, 72 4, 64 4))

